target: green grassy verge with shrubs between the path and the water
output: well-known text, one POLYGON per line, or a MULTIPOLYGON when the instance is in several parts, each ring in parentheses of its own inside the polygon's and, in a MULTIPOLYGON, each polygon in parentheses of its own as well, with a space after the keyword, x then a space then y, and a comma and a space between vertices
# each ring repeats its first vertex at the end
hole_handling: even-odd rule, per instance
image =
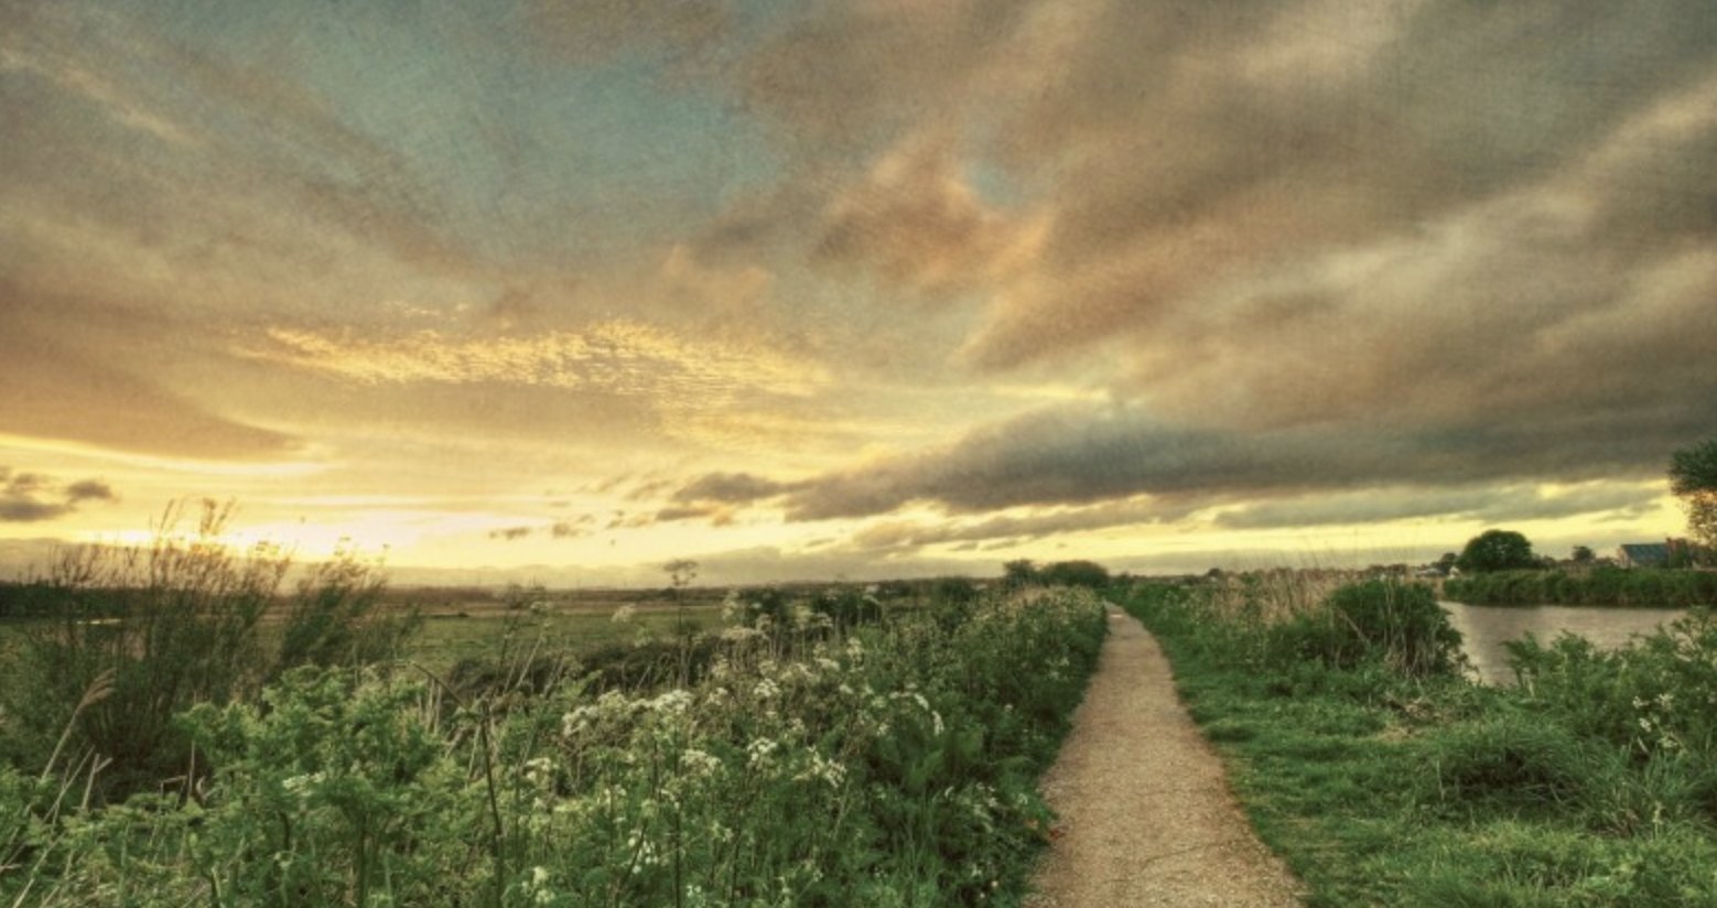
POLYGON ((1418 627, 1429 592, 1358 590, 1128 602, 1310 905, 1717 905, 1717 627, 1616 654, 1528 644, 1526 683, 1483 688, 1401 651, 1447 645, 1418 627))

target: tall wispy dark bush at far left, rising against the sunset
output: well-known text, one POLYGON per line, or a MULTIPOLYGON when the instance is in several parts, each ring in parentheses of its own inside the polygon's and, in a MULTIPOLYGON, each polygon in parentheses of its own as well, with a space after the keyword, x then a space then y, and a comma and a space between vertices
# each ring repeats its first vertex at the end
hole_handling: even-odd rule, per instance
POLYGON ((312 568, 283 620, 264 623, 290 560, 223 546, 228 513, 206 501, 192 536, 168 512, 148 546, 62 558, 39 584, 48 618, 22 628, 0 685, 9 760, 101 762, 100 796, 158 788, 194 769, 177 712, 251 697, 295 664, 376 659, 409 633, 376 613, 381 582, 349 554, 312 568))

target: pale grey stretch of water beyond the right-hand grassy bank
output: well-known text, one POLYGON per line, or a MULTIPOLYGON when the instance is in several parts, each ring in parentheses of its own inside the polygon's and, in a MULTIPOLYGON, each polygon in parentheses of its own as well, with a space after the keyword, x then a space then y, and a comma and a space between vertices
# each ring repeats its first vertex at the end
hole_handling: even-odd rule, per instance
POLYGON ((1638 633, 1686 614, 1686 609, 1593 608, 1593 606, 1463 606, 1441 602, 1449 623, 1461 632, 1466 657, 1485 683, 1514 683, 1502 644, 1532 632, 1549 644, 1564 630, 1592 640, 1599 647, 1619 647, 1638 633))

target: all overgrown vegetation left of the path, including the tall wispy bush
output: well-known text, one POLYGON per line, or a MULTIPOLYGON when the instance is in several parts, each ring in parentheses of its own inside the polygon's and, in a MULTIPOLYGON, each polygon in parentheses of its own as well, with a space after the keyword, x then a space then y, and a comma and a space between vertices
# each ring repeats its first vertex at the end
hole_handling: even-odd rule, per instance
POLYGON ((271 635, 271 553, 120 563, 141 573, 57 578, 84 618, 24 644, 27 671, 69 668, 0 716, 43 742, 0 766, 0 905, 1011 903, 1106 628, 1083 590, 735 594, 719 635, 615 671, 628 656, 580 664, 522 608, 488 671, 450 678, 366 649, 354 601, 379 587, 354 563, 271 635), (185 647, 215 656, 163 663, 185 647), (194 681, 158 704, 124 687, 173 671, 194 681), (124 786, 103 729, 136 719, 110 704, 156 728, 124 786))

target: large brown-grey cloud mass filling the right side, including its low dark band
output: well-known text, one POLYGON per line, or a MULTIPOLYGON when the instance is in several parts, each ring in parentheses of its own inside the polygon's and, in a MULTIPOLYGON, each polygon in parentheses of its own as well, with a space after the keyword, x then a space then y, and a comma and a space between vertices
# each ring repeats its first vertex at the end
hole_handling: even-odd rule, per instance
POLYGON ((1717 426, 1712 46, 1695 0, 817 7, 743 86, 855 163, 762 235, 932 290, 960 263, 968 366, 1111 364, 1126 407, 836 470, 788 515, 1660 475, 1717 426), (975 252, 1030 223, 1004 273, 975 252))

